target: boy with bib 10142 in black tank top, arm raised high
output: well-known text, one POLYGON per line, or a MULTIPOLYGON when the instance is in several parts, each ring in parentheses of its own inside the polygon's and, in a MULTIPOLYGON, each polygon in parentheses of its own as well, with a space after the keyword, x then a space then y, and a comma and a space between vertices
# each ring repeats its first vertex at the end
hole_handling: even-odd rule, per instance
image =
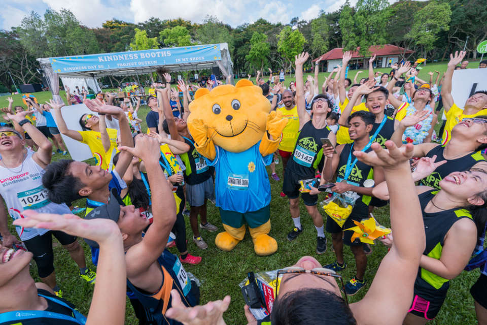
MULTIPOLYGON (((325 95, 315 96, 311 102, 312 117, 306 113, 304 100, 303 64, 308 59, 308 53, 296 56, 296 106, 299 116, 299 136, 294 147, 292 157, 284 173, 283 192, 289 198, 289 210, 293 219, 294 228, 288 234, 289 241, 295 240, 303 231, 299 212, 300 181, 312 182, 316 176, 316 169, 323 158, 323 144, 321 139, 327 138, 333 147, 336 138, 326 125, 326 115, 333 107, 325 95)), ((326 237, 323 226, 323 216, 316 206, 318 195, 303 192, 301 197, 308 214, 313 219, 318 233, 316 252, 323 254, 326 251, 326 237)))

